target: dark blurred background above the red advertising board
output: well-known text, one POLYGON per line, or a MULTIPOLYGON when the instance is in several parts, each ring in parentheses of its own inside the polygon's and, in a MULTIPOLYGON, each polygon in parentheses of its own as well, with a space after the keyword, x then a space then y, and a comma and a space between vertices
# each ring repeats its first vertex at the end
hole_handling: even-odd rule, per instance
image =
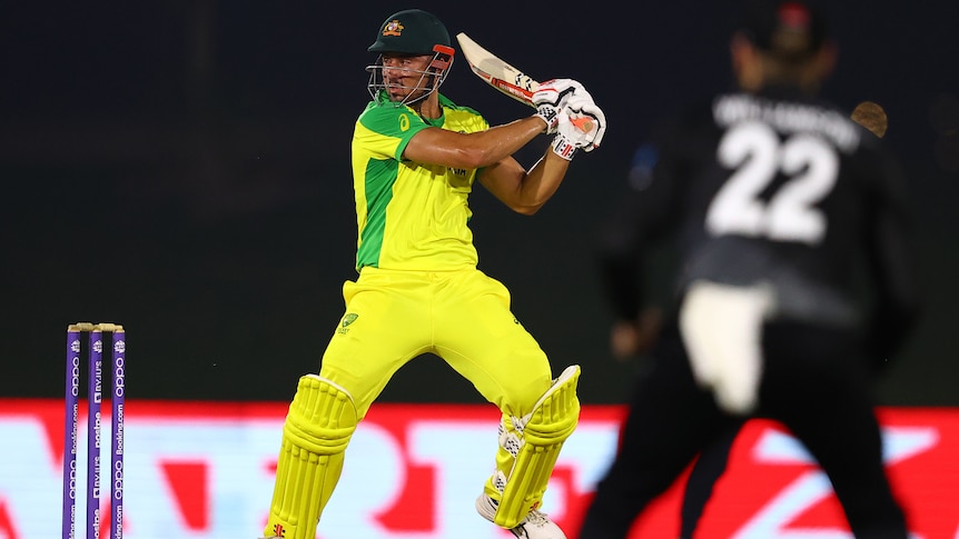
MULTIPOLYGON (((409 6, 8 3, 0 395, 59 396, 63 330, 85 320, 127 327, 130 398, 288 400, 317 369, 354 277, 348 151, 368 99, 365 49, 409 6)), ((511 289, 556 372, 583 366, 584 401, 621 401, 637 368, 607 352, 596 227, 653 122, 729 86, 728 6, 418 4, 534 77, 582 80, 606 112, 603 148, 576 158, 535 217, 482 188, 472 198, 481 269, 511 289)), ((825 90, 850 109, 886 107, 919 210, 926 317, 880 396, 959 405, 957 4, 832 9, 840 63, 825 90)), ((462 61, 443 90, 494 123, 530 112, 462 61)), ((383 399, 480 401, 434 357, 402 370, 383 399)))

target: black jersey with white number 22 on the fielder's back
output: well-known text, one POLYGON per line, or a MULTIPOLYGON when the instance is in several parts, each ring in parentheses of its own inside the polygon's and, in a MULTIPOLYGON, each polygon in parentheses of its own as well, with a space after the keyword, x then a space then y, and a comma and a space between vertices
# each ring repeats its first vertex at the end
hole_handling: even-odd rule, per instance
POLYGON ((849 114, 785 89, 725 93, 642 154, 600 241, 621 318, 639 311, 644 247, 672 232, 680 295, 698 279, 762 282, 780 318, 856 326, 864 260, 882 318, 873 323, 903 335, 917 303, 904 178, 849 114))

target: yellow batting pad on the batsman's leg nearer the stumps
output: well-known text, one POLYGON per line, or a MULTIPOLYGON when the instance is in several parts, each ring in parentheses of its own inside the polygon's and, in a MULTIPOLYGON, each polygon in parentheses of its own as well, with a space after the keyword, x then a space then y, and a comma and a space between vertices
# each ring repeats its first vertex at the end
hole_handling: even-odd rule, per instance
POLYGON ((316 537, 316 525, 339 480, 356 423, 349 392, 316 375, 299 379, 283 426, 266 537, 316 537))

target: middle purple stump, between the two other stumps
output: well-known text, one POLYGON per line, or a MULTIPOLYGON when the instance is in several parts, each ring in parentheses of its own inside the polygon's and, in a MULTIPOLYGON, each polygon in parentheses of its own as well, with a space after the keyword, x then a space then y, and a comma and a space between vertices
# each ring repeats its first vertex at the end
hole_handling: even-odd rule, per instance
POLYGON ((87 380, 87 539, 100 538, 100 403, 103 399, 103 332, 90 331, 87 380))

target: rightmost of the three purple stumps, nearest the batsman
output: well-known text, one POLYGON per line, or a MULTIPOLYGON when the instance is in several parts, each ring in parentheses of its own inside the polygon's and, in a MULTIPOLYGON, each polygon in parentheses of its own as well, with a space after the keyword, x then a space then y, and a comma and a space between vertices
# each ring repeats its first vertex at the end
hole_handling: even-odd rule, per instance
POLYGON ((123 405, 126 403, 126 332, 118 328, 113 331, 112 393, 110 396, 112 421, 112 450, 110 469, 112 498, 110 499, 110 536, 123 538, 123 405))

